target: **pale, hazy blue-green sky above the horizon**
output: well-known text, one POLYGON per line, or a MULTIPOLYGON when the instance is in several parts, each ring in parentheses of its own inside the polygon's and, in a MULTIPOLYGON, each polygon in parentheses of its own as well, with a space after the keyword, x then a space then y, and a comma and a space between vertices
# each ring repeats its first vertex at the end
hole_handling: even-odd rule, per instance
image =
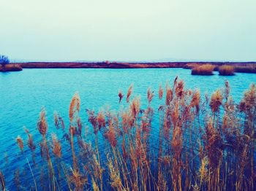
POLYGON ((255 0, 0 0, 11 61, 256 61, 255 0))

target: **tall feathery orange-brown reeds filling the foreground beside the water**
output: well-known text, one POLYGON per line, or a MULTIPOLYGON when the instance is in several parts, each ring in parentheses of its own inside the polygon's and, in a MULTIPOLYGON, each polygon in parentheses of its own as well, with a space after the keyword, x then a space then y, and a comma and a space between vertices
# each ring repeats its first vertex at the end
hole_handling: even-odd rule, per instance
MULTIPOLYGON (((37 122, 41 141, 35 143, 27 129, 26 143, 16 139, 24 159, 13 173, 17 190, 255 190, 255 85, 236 104, 228 82, 208 97, 186 90, 176 78, 172 85, 159 86, 158 95, 148 88, 145 108, 132 88, 127 103, 118 93, 118 112, 81 111, 76 93, 68 125, 54 114, 59 138, 48 132, 53 127, 42 109, 37 122), (151 106, 154 99, 162 103, 157 111, 151 106), (89 126, 80 112, 87 112, 89 126), (154 115, 159 127, 153 126, 154 115), (159 136, 152 136, 153 129, 159 136), (29 150, 41 155, 38 161, 28 156, 29 150), (22 168, 29 171, 26 176, 22 168)), ((0 183, 7 189, 2 171, 0 183)))

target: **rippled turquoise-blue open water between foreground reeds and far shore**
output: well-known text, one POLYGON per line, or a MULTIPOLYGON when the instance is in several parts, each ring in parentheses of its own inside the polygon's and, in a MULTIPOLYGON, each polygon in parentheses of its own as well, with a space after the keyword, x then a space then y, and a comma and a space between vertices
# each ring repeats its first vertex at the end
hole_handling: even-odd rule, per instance
MULTIPOLYGON (((184 79, 186 88, 197 88, 201 93, 208 94, 223 87, 227 79, 236 102, 242 98, 244 90, 256 82, 256 74, 192 76, 187 69, 24 69, 21 72, 0 73, 0 169, 4 170, 7 185, 11 184, 18 165, 27 165, 23 162, 25 160, 19 160, 22 155, 15 142, 18 135, 26 141, 23 126, 26 125, 33 133, 36 142, 41 139, 36 124, 42 107, 47 112, 48 132, 55 132, 53 112, 59 112, 67 126, 69 102, 72 95, 78 92, 81 98, 80 115, 83 123, 89 125, 86 109, 98 111, 102 106, 119 109, 118 90, 126 93, 133 83, 132 97, 140 95, 145 107, 147 88, 151 87, 157 94, 159 84, 165 87, 165 83, 173 83, 176 76, 184 79), (4 156, 7 156, 9 165, 4 162, 4 156)), ((157 96, 152 101, 155 110, 161 103, 157 96)), ((26 154, 29 151, 25 148, 26 154)))

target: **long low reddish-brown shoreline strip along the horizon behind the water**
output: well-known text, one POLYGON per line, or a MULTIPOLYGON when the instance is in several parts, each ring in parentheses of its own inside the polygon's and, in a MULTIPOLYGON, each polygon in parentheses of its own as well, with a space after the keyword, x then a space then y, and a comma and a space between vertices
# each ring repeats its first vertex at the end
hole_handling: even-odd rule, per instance
POLYGON ((184 68, 191 69, 193 65, 205 63, 214 66, 256 66, 256 62, 26 62, 16 63, 23 69, 147 69, 147 68, 184 68))

